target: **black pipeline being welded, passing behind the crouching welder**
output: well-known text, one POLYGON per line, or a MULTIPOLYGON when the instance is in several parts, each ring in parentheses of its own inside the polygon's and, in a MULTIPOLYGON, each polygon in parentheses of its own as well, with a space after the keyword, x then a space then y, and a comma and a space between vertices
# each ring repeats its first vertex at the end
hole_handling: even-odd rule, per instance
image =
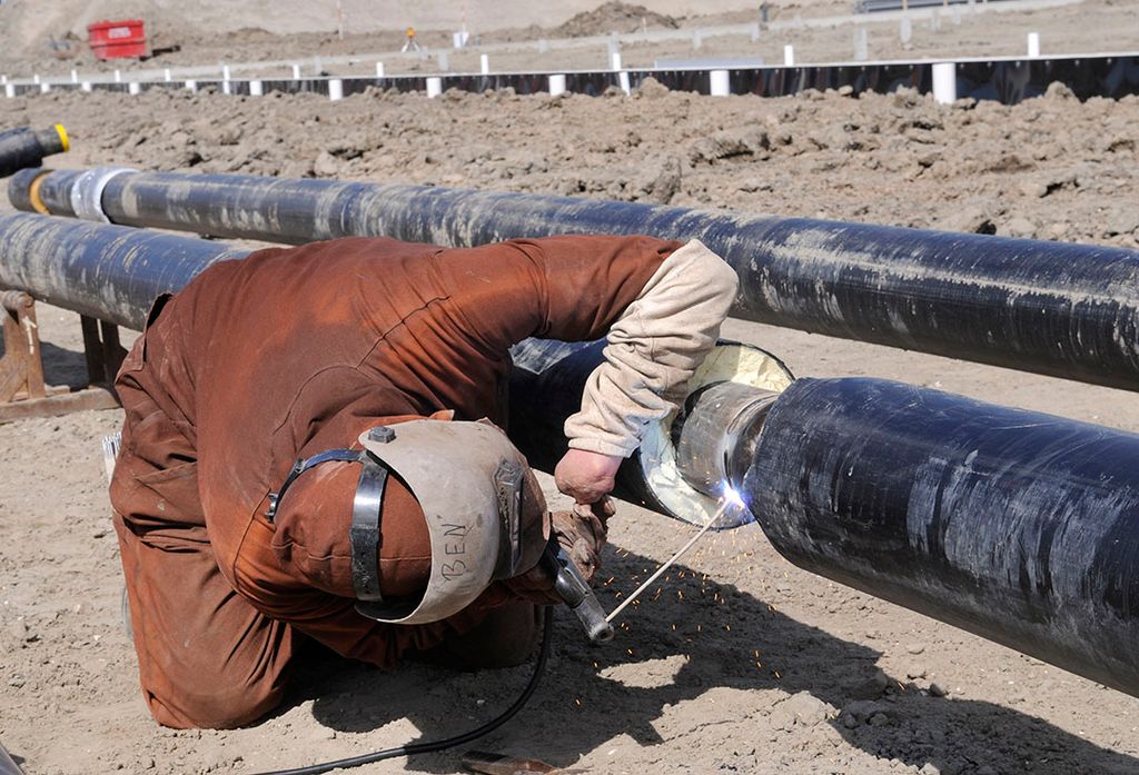
MULTIPOLYGON (((157 294, 240 255, 0 216, 0 286, 134 328, 157 294)), ((554 415, 572 411, 556 393, 599 354, 530 343, 515 417, 556 430, 515 438, 548 467, 554 415)), ((681 470, 730 479, 795 564, 1139 695, 1139 436, 872 379, 798 380, 773 401, 713 385, 689 403, 681 470)))

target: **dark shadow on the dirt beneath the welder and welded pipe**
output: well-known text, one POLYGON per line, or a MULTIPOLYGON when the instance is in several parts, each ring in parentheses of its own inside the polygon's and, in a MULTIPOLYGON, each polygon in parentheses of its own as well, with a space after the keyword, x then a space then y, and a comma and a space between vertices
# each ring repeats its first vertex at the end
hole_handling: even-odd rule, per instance
MULTIPOLYGON (((653 560, 623 551, 609 550, 606 558, 608 572, 621 578, 653 564, 653 560)), ((808 692, 839 709, 851 708, 859 699, 874 699, 883 718, 868 722, 867 716, 874 714, 863 712, 855 723, 847 712, 829 724, 851 747, 874 757, 917 767, 931 762, 942 773, 970 773, 982 767, 995 772, 1139 773, 1139 760, 1018 710, 936 698, 896 678, 884 681, 876 667, 878 651, 801 624, 746 592, 704 579, 690 568, 678 566, 675 571, 666 594, 629 616, 630 629, 620 629, 605 646, 585 644, 576 620, 558 610, 550 663, 519 717, 475 743, 416 757, 408 769, 454 772, 460 768, 459 755, 470 748, 568 766, 622 733, 640 747, 652 747, 665 742, 661 728, 675 739, 699 725, 718 723, 730 725, 720 734, 731 737, 731 748, 749 750, 753 762, 778 761, 782 736, 788 733, 780 729, 777 712, 771 712, 775 700, 770 695, 756 694, 754 701, 746 699, 747 694, 732 695, 731 708, 723 708, 722 701, 710 707, 713 718, 702 715, 688 719, 682 716, 688 711, 673 708, 728 687, 808 692), (681 571, 683 578, 678 578, 681 571), (679 665, 671 679, 621 683, 612 677, 622 673, 622 666, 669 658, 669 663, 679 665), (662 723, 666 716, 671 718, 662 723), (739 740, 741 732, 748 740, 739 740)), ((601 599, 608 609, 616 600, 608 590, 603 590, 601 599)), ((508 707, 522 692, 530 670, 526 666, 462 674, 408 665, 383 673, 329 656, 302 668, 290 700, 312 699, 317 720, 334 729, 371 731, 407 718, 421 735, 405 742, 435 741, 472 729, 508 707)), ((672 743, 678 744, 685 742, 672 743)), ((697 772, 708 769, 712 762, 702 762, 703 757, 720 757, 722 762, 727 753, 705 747, 691 752, 689 764, 697 772)), ((748 768, 745 760, 737 765, 744 772, 748 768)))

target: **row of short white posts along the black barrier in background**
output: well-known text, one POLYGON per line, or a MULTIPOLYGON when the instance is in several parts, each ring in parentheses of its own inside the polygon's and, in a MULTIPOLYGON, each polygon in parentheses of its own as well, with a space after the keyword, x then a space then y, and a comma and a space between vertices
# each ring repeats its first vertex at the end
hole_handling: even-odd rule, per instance
MULTIPOLYGON (((1035 32, 1029 33, 1029 57, 1035 58, 1040 56, 1040 34, 1035 32)), ((481 56, 480 69, 483 75, 490 74, 490 57, 485 53, 481 56)), ((795 65, 795 47, 785 46, 784 47, 784 66, 793 67, 795 65)), ((621 65, 621 53, 614 51, 609 55, 609 66, 617 73, 617 81, 621 90, 626 94, 631 91, 629 82, 629 73, 621 65)), ((293 77, 294 80, 300 80, 301 77, 301 66, 293 65, 293 77)), ((384 77, 384 63, 376 63, 376 77, 384 77)), ((727 69, 713 69, 708 72, 710 77, 710 93, 713 97, 727 97, 731 93, 731 84, 728 76, 727 69)), ((169 83, 171 82, 172 74, 170 68, 164 73, 164 79, 169 83)), ((40 85, 40 92, 47 93, 51 91, 51 84, 41 81, 40 76, 36 75, 35 83, 40 85)), ((8 76, 0 76, 0 83, 5 86, 5 96, 13 98, 16 96, 15 84, 8 81, 8 76)), ((79 74, 72 71, 72 83, 80 83, 79 74)), ((122 74, 115 71, 115 83, 122 83, 122 74)), ((186 81, 186 89, 190 91, 197 91, 197 81, 186 81)), ((91 82, 83 81, 80 84, 83 91, 91 91, 91 82)), ((566 90, 566 76, 565 75, 550 75, 549 76, 549 90, 550 94, 557 96, 566 90)), ((126 85, 128 93, 138 94, 141 91, 141 85, 137 81, 131 81, 126 85)), ((232 93, 231 86, 231 74, 228 65, 222 66, 222 93, 232 93)), ((427 77, 427 97, 439 97, 443 93, 443 79, 442 76, 428 76, 427 77)), ((249 94, 253 97, 262 97, 264 94, 264 88, 261 81, 249 81, 249 94)), ((934 99, 942 104, 951 104, 957 99, 957 65, 951 61, 940 61, 933 65, 933 96, 934 99)), ((328 98, 331 100, 344 99, 344 81, 341 79, 329 79, 328 81, 328 98)))

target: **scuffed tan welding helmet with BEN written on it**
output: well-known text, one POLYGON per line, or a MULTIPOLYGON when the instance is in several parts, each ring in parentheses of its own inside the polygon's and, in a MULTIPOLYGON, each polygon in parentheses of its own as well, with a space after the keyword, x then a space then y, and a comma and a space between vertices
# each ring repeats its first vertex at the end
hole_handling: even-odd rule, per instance
POLYGON ((494 580, 526 572, 550 536, 546 498, 506 434, 478 422, 410 420, 372 428, 352 517, 357 611, 377 621, 439 621, 469 605, 494 580), (399 477, 419 502, 431 541, 423 596, 387 601, 377 558, 383 480, 399 477), (378 480, 378 487, 377 487, 378 480))

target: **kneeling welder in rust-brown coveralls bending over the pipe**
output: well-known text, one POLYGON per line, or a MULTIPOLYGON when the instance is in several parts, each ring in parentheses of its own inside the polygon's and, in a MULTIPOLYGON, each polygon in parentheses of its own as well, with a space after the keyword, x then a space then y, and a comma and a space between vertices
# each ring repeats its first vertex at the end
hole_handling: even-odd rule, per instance
POLYGON ((620 462, 712 347, 736 274, 699 242, 554 237, 257 252, 157 299, 112 480, 146 702, 233 727, 306 640, 392 667, 525 661, 552 535, 596 571, 620 462), (607 338, 549 514, 506 432, 508 348, 607 338))

